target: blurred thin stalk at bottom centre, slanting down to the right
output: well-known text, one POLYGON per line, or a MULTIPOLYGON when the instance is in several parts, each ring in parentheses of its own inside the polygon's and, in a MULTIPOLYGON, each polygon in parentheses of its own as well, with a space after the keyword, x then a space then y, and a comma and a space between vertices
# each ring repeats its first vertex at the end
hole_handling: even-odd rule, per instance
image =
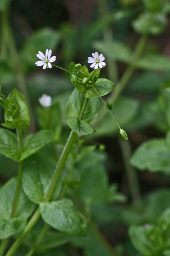
POLYGON ((85 215, 88 225, 89 225, 90 229, 93 231, 93 233, 95 234, 95 236, 102 242, 104 247, 108 250, 108 252, 111 253, 112 256, 118 256, 116 251, 114 250, 114 248, 111 246, 111 244, 109 244, 109 242, 105 239, 105 237, 102 235, 100 230, 93 224, 93 222, 91 221, 91 219, 85 212, 84 208, 82 207, 82 204, 79 201, 79 198, 77 197, 77 195, 73 189, 72 189, 72 195, 73 195, 73 198, 74 198, 79 210, 82 212, 83 215, 85 215))

